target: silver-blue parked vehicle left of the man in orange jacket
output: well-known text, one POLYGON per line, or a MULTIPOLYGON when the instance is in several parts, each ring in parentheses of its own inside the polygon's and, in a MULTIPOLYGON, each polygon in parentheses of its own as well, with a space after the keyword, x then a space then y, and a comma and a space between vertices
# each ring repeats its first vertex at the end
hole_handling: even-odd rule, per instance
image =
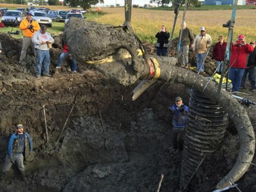
POLYGON ((20 11, 7 10, 2 17, 2 22, 5 26, 19 26, 22 19, 23 14, 20 11))

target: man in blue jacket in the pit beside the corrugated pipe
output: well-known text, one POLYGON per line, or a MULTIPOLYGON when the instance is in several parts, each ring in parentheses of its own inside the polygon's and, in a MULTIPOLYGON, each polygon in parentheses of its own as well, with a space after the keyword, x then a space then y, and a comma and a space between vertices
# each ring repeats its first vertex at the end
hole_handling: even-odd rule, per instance
POLYGON ((188 107, 183 104, 181 97, 175 98, 175 105, 169 110, 173 114, 172 119, 172 144, 174 149, 183 149, 184 132, 188 121, 188 107))

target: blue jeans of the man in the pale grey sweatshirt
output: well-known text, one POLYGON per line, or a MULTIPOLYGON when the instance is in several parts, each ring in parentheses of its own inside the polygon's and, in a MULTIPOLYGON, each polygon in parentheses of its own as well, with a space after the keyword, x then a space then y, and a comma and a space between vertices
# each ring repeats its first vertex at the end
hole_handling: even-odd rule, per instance
POLYGON ((49 74, 50 67, 50 51, 36 49, 36 75, 41 75, 41 68, 43 66, 43 74, 49 74))

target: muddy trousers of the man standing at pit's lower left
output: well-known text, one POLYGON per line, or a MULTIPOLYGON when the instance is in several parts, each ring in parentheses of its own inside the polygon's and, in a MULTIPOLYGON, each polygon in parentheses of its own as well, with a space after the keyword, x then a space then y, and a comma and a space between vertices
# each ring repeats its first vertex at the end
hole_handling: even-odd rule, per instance
MULTIPOLYGON (((24 157, 23 154, 13 154, 13 160, 15 163, 17 163, 19 170, 22 175, 25 174, 25 166, 24 166, 24 157)), ((7 154, 5 157, 5 162, 4 162, 4 167, 3 167, 3 172, 7 172, 11 169, 12 167, 12 162, 10 161, 10 157, 7 154)))

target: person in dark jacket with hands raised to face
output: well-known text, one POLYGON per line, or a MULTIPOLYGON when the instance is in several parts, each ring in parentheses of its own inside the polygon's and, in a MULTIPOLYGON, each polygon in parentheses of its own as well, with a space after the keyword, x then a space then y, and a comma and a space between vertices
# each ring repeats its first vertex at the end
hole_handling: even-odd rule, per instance
POLYGON ((160 31, 156 34, 157 44, 156 44, 156 54, 161 56, 166 56, 167 48, 169 47, 170 34, 167 32, 166 26, 162 25, 160 31))

